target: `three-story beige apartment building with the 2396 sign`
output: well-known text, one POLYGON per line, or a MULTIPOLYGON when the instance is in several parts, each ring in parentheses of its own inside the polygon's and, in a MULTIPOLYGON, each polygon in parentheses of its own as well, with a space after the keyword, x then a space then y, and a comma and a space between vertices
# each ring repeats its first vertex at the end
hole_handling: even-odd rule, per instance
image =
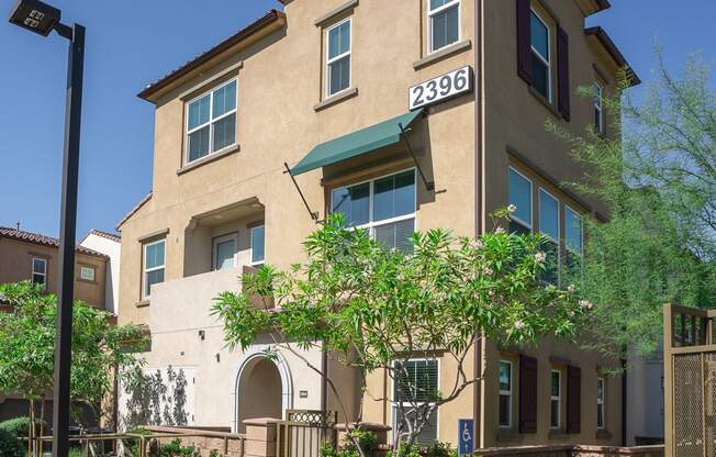
MULTIPOLYGON (((120 321, 150 330, 147 374, 181 395, 167 416, 178 425, 240 432, 249 417, 336 409, 299 357, 267 358, 268 336, 228 350, 210 315, 247 268, 303 260, 315 219, 342 212, 402 249, 416 230, 492 230, 489 214, 514 203, 510 228, 549 235, 563 266, 581 255, 582 219, 605 214, 560 186, 583 170, 545 121, 609 134, 598 98, 575 96, 580 86, 613 93, 627 66, 604 30, 584 25, 606 0, 282 3, 139 93, 156 110, 154 178, 118 227, 120 321)), ((560 268, 546 279, 558 281, 560 268)), ((356 414, 356 376, 322 365, 320 352, 301 356, 342 377, 356 414)), ((441 406, 419 439, 455 444, 468 419, 477 447, 619 444, 613 364, 561 342, 482 343, 467 369, 483 380, 441 406)), ((447 359, 409 369, 438 388, 456 376, 447 359)), ((390 403, 372 400, 398 394, 389 378, 373 374, 368 390, 362 419, 394 423, 390 403)), ((124 414, 135 406, 125 392, 124 414)))

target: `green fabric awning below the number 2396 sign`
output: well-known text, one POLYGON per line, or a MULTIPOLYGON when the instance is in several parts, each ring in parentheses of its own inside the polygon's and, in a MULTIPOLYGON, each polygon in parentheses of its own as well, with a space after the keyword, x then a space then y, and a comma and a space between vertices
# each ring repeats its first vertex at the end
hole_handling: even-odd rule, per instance
POLYGON ((291 169, 291 175, 298 176, 316 168, 325 167, 326 165, 393 145, 400 142, 400 125, 403 129, 407 129, 422 113, 422 109, 411 111, 398 118, 322 143, 314 147, 313 151, 291 169))

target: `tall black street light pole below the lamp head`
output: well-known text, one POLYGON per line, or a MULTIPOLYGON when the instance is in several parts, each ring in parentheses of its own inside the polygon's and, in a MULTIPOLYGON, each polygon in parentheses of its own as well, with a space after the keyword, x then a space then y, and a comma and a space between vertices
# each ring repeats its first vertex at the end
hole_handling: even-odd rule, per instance
POLYGON ((65 107, 65 151, 59 225, 59 298, 55 341, 53 398, 53 457, 69 453, 72 302, 75 300, 75 241, 77 239, 77 183, 85 68, 85 27, 59 24, 57 33, 70 41, 65 107))

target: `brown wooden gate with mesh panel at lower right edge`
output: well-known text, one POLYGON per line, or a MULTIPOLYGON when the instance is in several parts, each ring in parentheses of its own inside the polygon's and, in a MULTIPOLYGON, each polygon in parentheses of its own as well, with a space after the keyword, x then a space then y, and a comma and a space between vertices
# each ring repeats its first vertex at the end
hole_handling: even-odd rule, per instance
POLYGON ((716 310, 664 305, 667 457, 716 457, 716 310))

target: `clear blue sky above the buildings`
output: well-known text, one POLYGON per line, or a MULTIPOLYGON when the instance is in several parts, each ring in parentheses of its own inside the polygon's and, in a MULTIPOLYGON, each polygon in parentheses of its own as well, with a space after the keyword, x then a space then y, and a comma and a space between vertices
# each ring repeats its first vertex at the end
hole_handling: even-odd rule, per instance
MULTIPOLYGON (((315 0, 313 0, 315 1, 315 0)), ((506 1, 506 0, 488 0, 506 1)), ((566 0, 559 0, 566 1, 566 0)), ((0 0, 8 14, 14 0, 0 0)), ((87 26, 78 237, 113 231, 152 188, 154 111, 136 98, 156 80, 279 8, 276 0, 54 0, 64 22, 87 26), (198 8, 201 4, 202 8, 198 8)), ((612 0, 589 25, 609 33, 641 79, 658 41, 668 65, 702 52, 716 63, 716 2, 612 0)), ((1 16, 0 16, 1 18, 1 16)), ((57 235, 67 44, 0 20, 0 225, 57 235)))

